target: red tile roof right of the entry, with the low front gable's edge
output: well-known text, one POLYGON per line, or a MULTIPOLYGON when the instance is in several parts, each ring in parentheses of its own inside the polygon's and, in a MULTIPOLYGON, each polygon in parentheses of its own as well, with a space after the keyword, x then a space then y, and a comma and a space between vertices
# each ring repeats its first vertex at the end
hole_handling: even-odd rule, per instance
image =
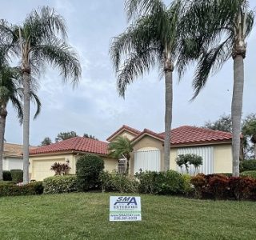
MULTIPOLYGON (((138 134, 133 142, 142 137, 142 135, 148 134, 153 136, 154 138, 158 138, 164 141, 165 133, 155 133, 151 130, 144 129, 141 134, 138 134)), ((222 132, 218 130, 209 130, 202 127, 196 126, 180 126, 178 128, 174 128, 170 131, 171 145, 184 145, 184 144, 198 144, 198 143, 206 143, 206 142, 222 142, 226 140, 232 139, 232 134, 227 132, 222 132)))

